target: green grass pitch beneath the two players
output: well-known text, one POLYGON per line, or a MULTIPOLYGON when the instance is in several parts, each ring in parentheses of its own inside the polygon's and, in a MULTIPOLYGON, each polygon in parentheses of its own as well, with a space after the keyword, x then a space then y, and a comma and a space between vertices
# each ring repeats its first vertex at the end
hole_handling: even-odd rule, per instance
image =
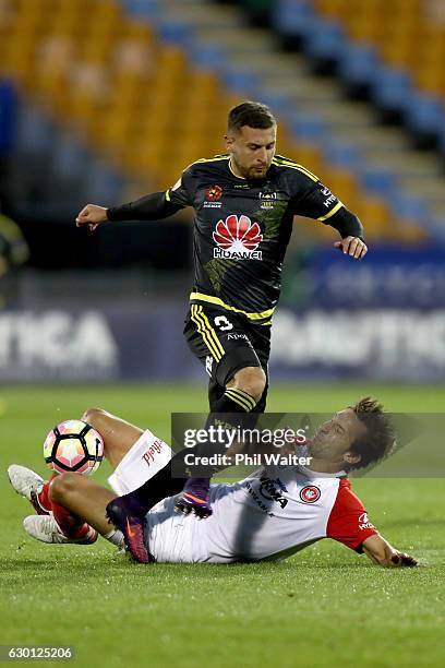
MULTIPOLYGON (((268 409, 338 409, 369 393, 389 410, 445 405, 445 387, 316 385, 273 386, 268 409)), ((204 411, 206 399, 204 386, 0 387, 0 644, 73 645, 76 666, 97 668, 445 664, 443 479, 354 482, 383 535, 420 558, 416 570, 378 569, 329 540, 276 564, 222 566, 137 565, 104 540, 34 542, 4 469, 44 474, 48 429, 91 406, 168 439, 170 411, 204 411)))

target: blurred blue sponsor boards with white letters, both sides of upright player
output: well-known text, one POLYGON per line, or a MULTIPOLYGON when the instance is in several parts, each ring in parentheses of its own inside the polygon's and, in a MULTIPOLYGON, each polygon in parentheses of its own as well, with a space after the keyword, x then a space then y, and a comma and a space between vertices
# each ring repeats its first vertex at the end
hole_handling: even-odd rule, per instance
MULTIPOLYGON (((4 311, 0 382, 199 380, 182 337, 182 307, 4 311)), ((274 381, 368 378, 445 380, 445 309, 279 308, 274 381)))

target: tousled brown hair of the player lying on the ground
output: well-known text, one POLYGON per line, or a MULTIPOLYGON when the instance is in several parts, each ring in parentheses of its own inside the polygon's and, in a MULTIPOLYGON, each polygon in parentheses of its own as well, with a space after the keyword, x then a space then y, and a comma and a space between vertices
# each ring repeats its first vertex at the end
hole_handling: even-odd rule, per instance
POLYGON ((365 468, 376 464, 392 450, 396 438, 390 417, 383 411, 383 406, 376 399, 366 396, 352 410, 366 427, 364 436, 358 437, 350 446, 350 452, 360 455, 360 461, 351 464, 349 469, 365 468))

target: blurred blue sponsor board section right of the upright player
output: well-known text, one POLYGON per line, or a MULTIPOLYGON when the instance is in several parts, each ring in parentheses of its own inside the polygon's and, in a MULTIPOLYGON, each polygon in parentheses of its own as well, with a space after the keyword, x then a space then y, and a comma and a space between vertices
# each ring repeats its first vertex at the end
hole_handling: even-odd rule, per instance
POLYGON ((445 381, 445 309, 278 310, 275 378, 445 381))

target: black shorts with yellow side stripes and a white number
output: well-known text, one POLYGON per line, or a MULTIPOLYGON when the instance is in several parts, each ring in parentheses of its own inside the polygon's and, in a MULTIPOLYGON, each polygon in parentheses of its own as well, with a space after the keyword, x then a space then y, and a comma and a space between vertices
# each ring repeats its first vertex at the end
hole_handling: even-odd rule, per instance
POLYGON ((262 367, 268 375, 270 325, 252 324, 244 315, 211 303, 191 303, 184 336, 211 377, 209 394, 215 385, 224 392, 234 373, 244 367, 262 367))

